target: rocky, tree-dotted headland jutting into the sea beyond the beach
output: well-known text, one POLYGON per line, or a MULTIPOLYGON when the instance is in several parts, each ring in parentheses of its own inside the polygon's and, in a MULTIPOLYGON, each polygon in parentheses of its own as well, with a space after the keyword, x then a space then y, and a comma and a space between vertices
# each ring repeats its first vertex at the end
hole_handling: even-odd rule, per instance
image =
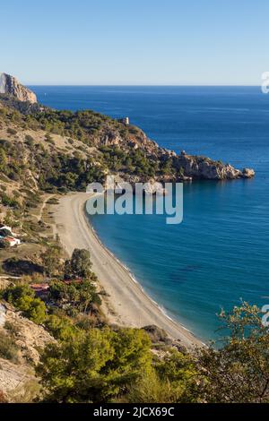
MULTIPOLYGON (((2 126, 17 133, 8 136, 9 141, 17 144, 20 138, 22 155, 30 154, 29 171, 41 189, 85 190, 87 183, 102 182, 108 174, 131 183, 255 176, 250 168, 240 170, 221 160, 161 148, 129 121, 126 124, 91 110, 71 112, 43 107, 36 102, 34 93, 5 73, 1 75, 0 86, 0 91, 4 91, 0 94, 2 126), (26 133, 27 130, 31 133, 26 133), (29 135, 39 148, 49 151, 49 156, 42 156, 37 148, 25 142, 29 135)), ((5 153, 9 154, 7 146, 5 153)))

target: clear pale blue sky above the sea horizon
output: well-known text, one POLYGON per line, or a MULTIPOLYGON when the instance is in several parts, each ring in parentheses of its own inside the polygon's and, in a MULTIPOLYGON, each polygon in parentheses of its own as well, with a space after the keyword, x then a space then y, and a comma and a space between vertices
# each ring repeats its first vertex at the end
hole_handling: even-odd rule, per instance
POLYGON ((0 72, 27 84, 254 84, 268 0, 8 0, 0 72))

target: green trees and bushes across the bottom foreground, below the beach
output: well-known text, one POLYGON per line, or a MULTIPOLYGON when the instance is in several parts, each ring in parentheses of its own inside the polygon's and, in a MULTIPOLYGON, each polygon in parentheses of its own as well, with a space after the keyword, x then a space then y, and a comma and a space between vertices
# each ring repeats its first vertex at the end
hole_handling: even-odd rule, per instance
POLYGON ((49 345, 38 371, 57 402, 268 402, 269 334, 255 306, 221 314, 230 337, 219 350, 168 348, 153 357, 143 331, 74 330, 49 345), (246 335, 246 331, 248 334, 246 335))

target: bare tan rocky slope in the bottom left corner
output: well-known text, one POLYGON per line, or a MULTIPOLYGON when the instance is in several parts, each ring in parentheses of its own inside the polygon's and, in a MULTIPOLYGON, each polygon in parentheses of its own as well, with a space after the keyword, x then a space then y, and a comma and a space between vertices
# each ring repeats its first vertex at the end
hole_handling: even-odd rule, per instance
POLYGON ((11 305, 0 305, 0 401, 1 393, 13 402, 31 401, 38 395, 34 365, 39 363, 40 350, 54 341, 48 331, 11 305))

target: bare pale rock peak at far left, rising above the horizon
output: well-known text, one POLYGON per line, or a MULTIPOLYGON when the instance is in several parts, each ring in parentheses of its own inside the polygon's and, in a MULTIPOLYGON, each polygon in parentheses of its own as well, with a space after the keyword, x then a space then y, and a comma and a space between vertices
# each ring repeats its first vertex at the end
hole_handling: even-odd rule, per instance
POLYGON ((31 104, 38 102, 35 93, 22 86, 17 79, 6 73, 0 73, 0 93, 12 95, 20 101, 30 102, 31 104))

